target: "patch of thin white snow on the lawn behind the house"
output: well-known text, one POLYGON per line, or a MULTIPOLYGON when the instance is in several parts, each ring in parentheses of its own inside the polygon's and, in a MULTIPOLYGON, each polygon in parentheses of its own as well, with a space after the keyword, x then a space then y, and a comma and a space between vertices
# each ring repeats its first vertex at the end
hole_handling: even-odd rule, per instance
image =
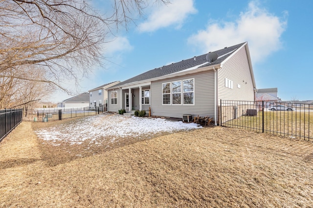
POLYGON ((37 135, 54 145, 59 142, 81 144, 85 140, 101 143, 103 139, 114 142, 118 138, 140 137, 159 132, 175 132, 201 128, 195 123, 168 121, 161 118, 139 118, 124 115, 99 114, 80 118, 66 124, 36 131, 37 135))

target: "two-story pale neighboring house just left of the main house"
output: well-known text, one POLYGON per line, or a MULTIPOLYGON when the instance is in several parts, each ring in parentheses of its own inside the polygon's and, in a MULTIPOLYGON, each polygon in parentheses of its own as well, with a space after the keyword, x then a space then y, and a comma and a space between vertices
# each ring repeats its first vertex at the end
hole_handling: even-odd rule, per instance
POLYGON ((108 103, 108 92, 107 88, 120 83, 120 81, 111 82, 108 84, 101 85, 92 90, 89 90, 89 107, 101 107, 104 104, 108 103))

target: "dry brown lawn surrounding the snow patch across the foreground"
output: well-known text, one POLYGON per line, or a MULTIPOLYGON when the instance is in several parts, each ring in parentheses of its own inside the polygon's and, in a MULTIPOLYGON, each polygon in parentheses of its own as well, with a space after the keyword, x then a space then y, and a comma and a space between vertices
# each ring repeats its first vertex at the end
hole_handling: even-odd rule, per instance
POLYGON ((55 124, 0 143, 1 208, 313 207, 312 142, 207 127, 84 151, 33 132, 55 124))

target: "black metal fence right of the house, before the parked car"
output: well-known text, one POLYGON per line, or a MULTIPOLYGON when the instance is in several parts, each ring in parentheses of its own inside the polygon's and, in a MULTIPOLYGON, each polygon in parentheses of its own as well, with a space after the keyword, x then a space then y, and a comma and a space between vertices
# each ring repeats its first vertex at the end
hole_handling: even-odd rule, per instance
POLYGON ((219 123, 221 126, 251 129, 310 141, 313 139, 313 105, 221 100, 219 123))

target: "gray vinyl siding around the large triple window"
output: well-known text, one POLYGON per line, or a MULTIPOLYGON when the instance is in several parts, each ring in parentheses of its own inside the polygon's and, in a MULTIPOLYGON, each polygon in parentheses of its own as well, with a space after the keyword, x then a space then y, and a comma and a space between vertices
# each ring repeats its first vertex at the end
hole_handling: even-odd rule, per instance
POLYGON ((214 72, 178 76, 151 83, 151 114, 182 118, 183 114, 214 117, 214 72), (162 105, 162 83, 194 78, 194 105, 162 105))

